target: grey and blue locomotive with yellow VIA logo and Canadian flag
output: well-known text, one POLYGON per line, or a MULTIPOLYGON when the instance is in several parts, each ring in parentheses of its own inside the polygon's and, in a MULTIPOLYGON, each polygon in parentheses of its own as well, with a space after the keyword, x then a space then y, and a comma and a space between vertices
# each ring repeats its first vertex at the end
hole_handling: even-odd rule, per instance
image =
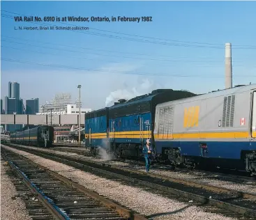
POLYGON ((256 173, 255 84, 158 104, 155 124, 160 159, 256 173))

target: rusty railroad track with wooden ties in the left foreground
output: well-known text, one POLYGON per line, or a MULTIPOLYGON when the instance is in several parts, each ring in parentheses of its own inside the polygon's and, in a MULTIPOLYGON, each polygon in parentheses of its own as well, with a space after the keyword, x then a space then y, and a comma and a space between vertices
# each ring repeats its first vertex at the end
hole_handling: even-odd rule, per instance
POLYGON ((32 219, 146 220, 15 152, 1 148, 1 155, 12 168, 8 174, 20 179, 15 182, 18 193, 32 198, 24 199, 32 219))

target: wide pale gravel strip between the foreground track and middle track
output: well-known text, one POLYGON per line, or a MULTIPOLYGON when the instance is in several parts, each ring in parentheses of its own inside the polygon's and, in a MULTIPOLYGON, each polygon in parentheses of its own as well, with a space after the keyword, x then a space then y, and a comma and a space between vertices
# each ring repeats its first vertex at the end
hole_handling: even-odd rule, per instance
POLYGON ((204 212, 204 207, 196 207, 193 205, 193 202, 189 203, 188 201, 188 203, 181 203, 174 199, 165 198, 163 196, 153 194, 153 192, 145 191, 140 187, 131 187, 121 182, 100 178, 97 175, 86 173, 71 166, 54 162, 50 159, 44 159, 43 157, 38 157, 22 150, 16 150, 6 146, 3 146, 3 148, 17 152, 20 155, 24 155, 33 162, 45 166, 52 171, 57 171, 60 175, 70 178, 87 189, 96 191, 98 194, 110 198, 121 205, 125 205, 140 214, 145 214, 151 219, 235 219, 224 217, 220 214, 204 212))

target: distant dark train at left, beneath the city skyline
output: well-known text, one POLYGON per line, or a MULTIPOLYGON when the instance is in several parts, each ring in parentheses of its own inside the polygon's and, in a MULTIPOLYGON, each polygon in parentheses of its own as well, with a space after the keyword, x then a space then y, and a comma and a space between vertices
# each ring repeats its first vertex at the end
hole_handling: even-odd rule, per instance
POLYGON ((50 148, 53 142, 54 128, 48 125, 33 127, 10 134, 10 143, 50 148))

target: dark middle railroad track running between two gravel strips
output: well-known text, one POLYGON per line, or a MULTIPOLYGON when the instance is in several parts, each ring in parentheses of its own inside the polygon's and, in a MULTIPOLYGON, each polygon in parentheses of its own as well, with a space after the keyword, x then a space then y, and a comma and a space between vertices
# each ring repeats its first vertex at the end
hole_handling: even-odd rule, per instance
POLYGON ((225 213, 231 217, 234 217, 235 214, 238 219, 245 219, 245 217, 248 219, 256 218, 255 194, 247 194, 222 187, 213 187, 188 180, 159 177, 152 173, 145 174, 141 171, 77 159, 77 157, 55 155, 52 152, 39 152, 37 149, 15 148, 79 168, 83 171, 97 173, 107 178, 119 178, 123 181, 130 182, 130 184, 140 184, 143 187, 153 188, 155 191, 161 191, 165 196, 171 195, 172 198, 174 196, 177 199, 190 199, 196 201, 199 205, 208 205, 210 212, 212 211, 212 207, 218 207, 218 213, 225 213))

